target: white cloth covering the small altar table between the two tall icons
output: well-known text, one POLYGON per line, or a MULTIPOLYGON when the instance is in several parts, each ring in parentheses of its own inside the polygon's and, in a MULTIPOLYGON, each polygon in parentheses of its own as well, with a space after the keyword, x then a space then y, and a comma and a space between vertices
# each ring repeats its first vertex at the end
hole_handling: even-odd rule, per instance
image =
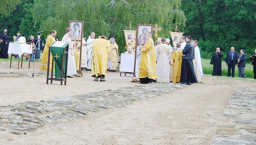
POLYGON ((124 54, 124 53, 121 54, 120 72, 133 73, 134 57, 135 57, 135 54, 124 54))

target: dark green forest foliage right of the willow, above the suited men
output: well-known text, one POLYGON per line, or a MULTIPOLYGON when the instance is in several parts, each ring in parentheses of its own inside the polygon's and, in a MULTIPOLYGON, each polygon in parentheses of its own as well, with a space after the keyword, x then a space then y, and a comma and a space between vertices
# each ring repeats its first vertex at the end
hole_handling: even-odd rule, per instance
POLYGON ((233 46, 254 54, 255 0, 182 0, 181 8, 187 19, 185 34, 199 40, 203 58, 210 58, 216 47, 224 53, 233 46))

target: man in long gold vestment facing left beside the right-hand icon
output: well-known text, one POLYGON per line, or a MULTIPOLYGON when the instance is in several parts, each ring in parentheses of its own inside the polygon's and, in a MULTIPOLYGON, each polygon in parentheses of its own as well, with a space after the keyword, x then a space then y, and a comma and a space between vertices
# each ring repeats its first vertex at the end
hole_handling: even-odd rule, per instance
POLYGON ((141 51, 139 78, 141 83, 156 82, 156 52, 152 32, 147 32, 147 41, 139 46, 141 51))

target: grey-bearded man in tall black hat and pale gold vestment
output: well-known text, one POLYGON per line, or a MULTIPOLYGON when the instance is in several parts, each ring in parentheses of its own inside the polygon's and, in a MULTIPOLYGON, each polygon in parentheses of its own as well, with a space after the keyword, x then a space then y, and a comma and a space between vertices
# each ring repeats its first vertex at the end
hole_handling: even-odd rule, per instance
POLYGON ((110 53, 108 54, 108 70, 115 71, 118 61, 118 45, 115 42, 115 35, 111 34, 108 38, 110 53))

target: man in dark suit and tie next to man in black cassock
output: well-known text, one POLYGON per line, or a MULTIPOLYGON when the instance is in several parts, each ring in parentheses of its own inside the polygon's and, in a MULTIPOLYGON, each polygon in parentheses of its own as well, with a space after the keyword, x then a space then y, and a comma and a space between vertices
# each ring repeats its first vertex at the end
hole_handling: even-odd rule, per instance
POLYGON ((230 48, 226 56, 226 65, 228 65, 228 76, 230 76, 230 69, 232 69, 232 77, 235 77, 235 65, 237 64, 237 52, 234 47, 230 48))

